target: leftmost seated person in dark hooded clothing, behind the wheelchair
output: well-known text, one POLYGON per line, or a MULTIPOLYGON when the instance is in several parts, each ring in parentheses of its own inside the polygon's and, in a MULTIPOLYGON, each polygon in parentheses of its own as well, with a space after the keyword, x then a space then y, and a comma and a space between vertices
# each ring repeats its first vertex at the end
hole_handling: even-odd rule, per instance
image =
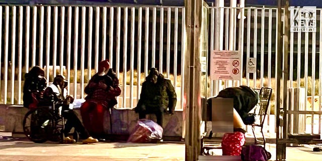
POLYGON ((47 86, 47 80, 44 77, 45 72, 40 66, 34 66, 25 74, 24 83, 24 107, 29 109, 37 108, 38 101, 47 86))

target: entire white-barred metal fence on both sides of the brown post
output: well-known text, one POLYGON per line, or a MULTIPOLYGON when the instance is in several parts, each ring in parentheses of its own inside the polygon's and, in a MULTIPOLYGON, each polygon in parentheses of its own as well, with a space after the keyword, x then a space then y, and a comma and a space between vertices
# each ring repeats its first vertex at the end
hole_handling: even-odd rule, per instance
MULTIPOLYGON (((45 69, 49 81, 62 73, 69 93, 84 98, 84 87, 97 72, 98 62, 109 59, 122 88, 118 108, 136 106, 148 68, 157 67, 176 87, 176 109, 183 109, 183 7, 0 6, 0 13, 0 103, 22 104, 23 75, 34 65, 45 69)), ((288 88, 305 89, 305 110, 315 111, 305 115, 312 118, 309 133, 312 129, 321 133, 320 10, 317 15, 316 33, 290 34, 289 75, 283 76, 288 88), (307 97, 318 103, 307 106, 307 97)), ((276 8, 209 8, 209 51, 243 53, 243 81, 209 80, 205 85, 209 97, 230 86, 265 86, 274 89, 271 107, 275 107, 275 92, 280 90, 276 89, 277 23, 276 8), (247 68, 250 58, 256 60, 255 72, 247 68)))

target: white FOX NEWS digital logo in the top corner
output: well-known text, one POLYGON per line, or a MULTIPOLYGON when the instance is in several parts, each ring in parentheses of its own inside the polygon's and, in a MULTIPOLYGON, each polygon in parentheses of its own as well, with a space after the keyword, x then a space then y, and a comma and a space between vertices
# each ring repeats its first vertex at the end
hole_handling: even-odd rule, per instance
POLYGON ((291 7, 291 32, 316 32, 316 7, 291 7))

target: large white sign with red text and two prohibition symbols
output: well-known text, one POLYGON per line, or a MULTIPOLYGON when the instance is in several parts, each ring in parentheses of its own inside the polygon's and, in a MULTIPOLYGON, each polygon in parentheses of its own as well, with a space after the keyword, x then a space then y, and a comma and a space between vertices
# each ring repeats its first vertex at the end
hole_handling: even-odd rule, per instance
POLYGON ((210 55, 212 80, 240 81, 241 73, 241 54, 238 51, 212 51, 210 55))

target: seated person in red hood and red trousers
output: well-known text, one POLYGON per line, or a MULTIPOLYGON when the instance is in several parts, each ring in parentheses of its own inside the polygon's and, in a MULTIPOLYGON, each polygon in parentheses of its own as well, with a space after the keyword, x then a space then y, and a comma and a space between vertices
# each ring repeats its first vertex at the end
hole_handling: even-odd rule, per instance
POLYGON ((83 124, 91 135, 104 138, 104 112, 117 104, 115 97, 121 94, 119 80, 108 60, 99 62, 99 70, 85 87, 85 93, 86 101, 81 106, 83 124))

